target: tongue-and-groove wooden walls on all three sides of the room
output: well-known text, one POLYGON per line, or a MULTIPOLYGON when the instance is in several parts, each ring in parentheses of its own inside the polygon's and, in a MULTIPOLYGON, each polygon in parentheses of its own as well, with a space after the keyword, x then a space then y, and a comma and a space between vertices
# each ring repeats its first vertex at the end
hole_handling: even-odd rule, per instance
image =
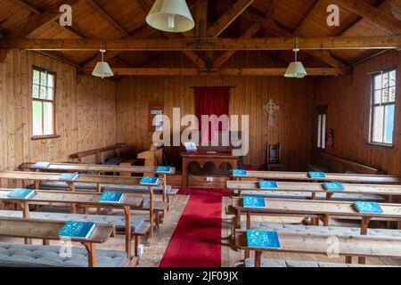
MULTIPOLYGON (((255 67, 280 66, 268 56, 234 55, 227 67, 253 62, 255 67)), ((154 66, 187 66, 185 58, 167 54, 154 66)), ((151 66, 151 65, 150 65, 151 66)), ((126 142, 128 155, 148 150, 151 133, 149 102, 163 102, 166 114, 174 107, 181 115, 194 113, 192 86, 231 85, 230 113, 250 115, 250 153, 244 162, 265 163, 266 142, 281 142, 289 170, 304 170, 315 151, 314 107, 328 104, 328 128, 335 130, 329 153, 401 175, 401 55, 384 53, 357 65, 346 77, 312 81, 282 77, 125 77, 117 82, 77 75, 74 67, 37 53, 11 51, 0 63, 0 169, 12 170, 27 160, 68 160, 70 153, 116 142, 126 142), (31 66, 57 72, 57 134, 60 138, 31 140, 31 66), (370 76, 379 69, 397 67, 397 115, 393 148, 367 143, 370 76), (263 105, 274 99, 281 110, 274 127, 267 126, 263 105)), ((179 149, 169 149, 170 159, 179 149)))

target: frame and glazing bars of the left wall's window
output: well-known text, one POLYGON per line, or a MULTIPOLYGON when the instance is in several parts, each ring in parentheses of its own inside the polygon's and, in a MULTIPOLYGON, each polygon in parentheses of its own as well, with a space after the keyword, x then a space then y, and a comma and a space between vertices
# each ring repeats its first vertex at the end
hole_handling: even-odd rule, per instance
MULTIPOLYGON (((39 135, 35 135, 33 134, 33 113, 31 114, 30 118, 32 119, 31 121, 31 126, 32 126, 32 136, 31 136, 31 140, 32 141, 37 141, 37 140, 46 140, 46 139, 55 139, 55 138, 59 138, 60 135, 57 134, 57 118, 56 118, 56 93, 57 93, 57 73, 49 70, 49 69, 44 69, 44 68, 39 68, 37 66, 32 65, 32 69, 31 69, 31 85, 30 85, 30 99, 31 99, 31 111, 33 112, 33 103, 34 102, 41 102, 42 104, 42 131, 45 128, 45 119, 44 119, 44 112, 43 112, 43 104, 44 102, 49 102, 53 104, 53 132, 52 134, 39 134, 39 135), (40 85, 39 84, 39 98, 34 98, 33 96, 33 87, 35 85, 34 83, 34 72, 38 71, 38 72, 45 72, 46 75, 50 74, 54 77, 54 82, 53 82, 53 100, 47 100, 47 99, 41 99, 40 98, 40 85)), ((40 79, 39 79, 40 80, 40 79)), ((40 83, 40 82, 39 82, 40 83)), ((47 84, 47 76, 46 76, 46 85, 45 87, 48 87, 47 84)))

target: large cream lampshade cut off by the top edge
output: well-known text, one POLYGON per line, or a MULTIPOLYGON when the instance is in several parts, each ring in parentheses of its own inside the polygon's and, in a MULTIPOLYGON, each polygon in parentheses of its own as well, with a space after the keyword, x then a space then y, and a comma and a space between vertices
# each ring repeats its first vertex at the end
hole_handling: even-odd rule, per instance
POLYGON ((184 33, 195 27, 185 0, 156 0, 146 22, 165 32, 184 33))

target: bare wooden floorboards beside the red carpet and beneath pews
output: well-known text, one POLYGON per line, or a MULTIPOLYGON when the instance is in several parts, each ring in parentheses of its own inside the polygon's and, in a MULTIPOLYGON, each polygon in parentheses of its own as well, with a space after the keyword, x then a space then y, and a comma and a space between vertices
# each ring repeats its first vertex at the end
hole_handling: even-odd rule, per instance
MULTIPOLYGON (((168 242, 171 239, 171 236, 176 229, 176 224, 179 221, 179 218, 184 212, 184 208, 189 200, 189 196, 177 196, 172 201, 172 210, 168 216, 168 220, 165 224, 160 226, 160 230, 156 232, 155 240, 152 242, 151 246, 147 244, 146 240, 143 240, 145 243, 143 256, 140 258, 139 267, 158 267, 160 265, 160 261, 168 247, 168 242)), ((229 204, 229 198, 224 198, 222 203, 222 266, 223 267, 233 267, 233 266, 241 266, 241 261, 243 260, 243 252, 236 251, 233 246, 233 240, 230 239, 230 235, 232 232, 232 221, 233 216, 225 215, 225 206, 229 204)), ((114 212, 116 215, 119 213, 114 212)), ((138 215, 143 215, 143 213, 139 212, 138 215)), ((143 215, 145 220, 149 220, 147 215, 143 215)), ((259 218, 259 217, 255 217, 259 218)), ((266 220, 266 217, 263 218, 266 220)), ((271 223, 286 223, 286 224, 299 224, 301 220, 299 218, 268 218, 271 223)), ((332 221, 331 224, 338 224, 337 221, 332 221)), ((340 225, 345 225, 341 223, 340 225)), ((349 226, 356 224, 349 224, 349 226)), ((15 242, 22 243, 22 240, 16 239, 0 239, 0 241, 7 242, 15 242)), ((34 241, 35 244, 40 244, 40 240, 34 241)), ((143 242, 142 242, 143 243, 143 242)), ((58 245, 57 242, 51 242, 51 245, 58 245)), ((79 246, 79 245, 77 245, 79 246)), ((125 237, 117 236, 116 238, 111 239, 109 242, 103 244, 99 248, 105 249, 119 249, 124 250, 125 248, 125 237)), ((274 258, 274 259, 285 259, 285 260, 302 260, 302 261, 319 261, 319 262, 328 262, 328 263, 343 263, 343 258, 329 258, 327 256, 315 256, 315 255, 301 255, 301 254, 276 254, 276 253, 265 253, 264 258, 274 258)), ((397 265, 401 266, 401 260, 392 259, 392 258, 368 258, 368 265, 397 265)))

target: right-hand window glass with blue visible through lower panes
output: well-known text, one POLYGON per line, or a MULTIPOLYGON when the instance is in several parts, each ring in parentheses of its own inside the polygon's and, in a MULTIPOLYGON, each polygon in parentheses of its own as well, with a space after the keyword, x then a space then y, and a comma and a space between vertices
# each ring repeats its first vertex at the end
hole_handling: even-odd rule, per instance
POLYGON ((396 69, 384 70, 372 76, 372 143, 393 144, 396 81, 396 69))

